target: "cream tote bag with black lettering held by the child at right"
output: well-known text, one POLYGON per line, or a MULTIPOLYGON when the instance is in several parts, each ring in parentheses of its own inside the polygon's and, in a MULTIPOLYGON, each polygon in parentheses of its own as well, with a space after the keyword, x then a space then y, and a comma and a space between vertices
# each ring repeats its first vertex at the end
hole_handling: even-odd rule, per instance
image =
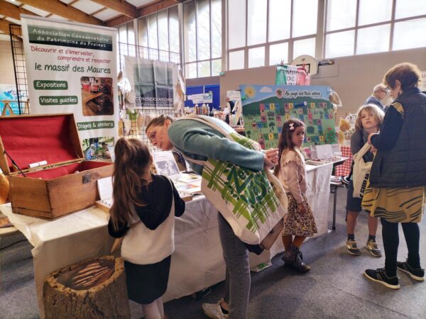
POLYGON ((361 150, 354 155, 354 169, 352 172, 352 180, 354 181, 355 198, 362 198, 366 190, 368 177, 370 176, 371 164, 373 162, 364 162, 363 156, 370 150, 371 145, 366 143, 361 150))

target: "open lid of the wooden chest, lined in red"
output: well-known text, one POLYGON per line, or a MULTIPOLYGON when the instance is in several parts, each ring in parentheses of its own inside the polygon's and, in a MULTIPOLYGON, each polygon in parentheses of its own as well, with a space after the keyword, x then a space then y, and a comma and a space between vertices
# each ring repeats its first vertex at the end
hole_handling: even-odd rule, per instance
POLYGON ((83 158, 72 113, 0 117, 0 151, 4 174, 18 171, 11 158, 22 171, 31 163, 65 164, 83 158))

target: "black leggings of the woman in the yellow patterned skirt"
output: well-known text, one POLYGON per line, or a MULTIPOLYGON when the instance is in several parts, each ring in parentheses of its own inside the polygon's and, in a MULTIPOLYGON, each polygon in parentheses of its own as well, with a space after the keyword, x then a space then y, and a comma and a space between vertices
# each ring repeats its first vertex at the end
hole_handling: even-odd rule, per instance
MULTIPOLYGON (((398 225, 399 223, 389 223, 381 218, 383 248, 385 249, 385 269, 390 277, 396 276, 396 260, 398 257, 398 225)), ((412 268, 420 268, 419 242, 420 229, 417 223, 401 223, 405 242, 408 247, 407 262, 412 268)))

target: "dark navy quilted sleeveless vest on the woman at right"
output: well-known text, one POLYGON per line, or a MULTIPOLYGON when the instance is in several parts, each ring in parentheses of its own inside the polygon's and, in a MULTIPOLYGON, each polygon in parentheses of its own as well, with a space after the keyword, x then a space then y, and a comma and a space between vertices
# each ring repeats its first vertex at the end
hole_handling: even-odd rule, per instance
POLYGON ((409 89, 393 103, 404 108, 403 126, 391 150, 378 150, 370 184, 376 188, 426 186, 426 95, 409 89))

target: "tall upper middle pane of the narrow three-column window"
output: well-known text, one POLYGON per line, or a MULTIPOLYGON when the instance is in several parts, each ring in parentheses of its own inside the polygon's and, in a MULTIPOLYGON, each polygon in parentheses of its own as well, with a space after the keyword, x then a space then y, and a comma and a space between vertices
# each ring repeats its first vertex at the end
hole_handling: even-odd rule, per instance
POLYGON ((196 3, 198 48, 197 60, 207 60, 210 58, 210 4, 209 0, 197 0, 196 3))

